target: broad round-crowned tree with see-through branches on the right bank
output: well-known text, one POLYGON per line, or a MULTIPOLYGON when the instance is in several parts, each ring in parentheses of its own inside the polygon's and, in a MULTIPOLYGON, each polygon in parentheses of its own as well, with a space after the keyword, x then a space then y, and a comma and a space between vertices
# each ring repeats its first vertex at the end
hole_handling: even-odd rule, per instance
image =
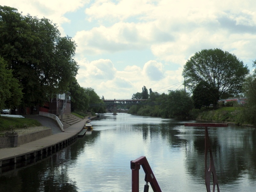
POLYGON ((193 91, 200 82, 207 82, 220 98, 242 92, 249 69, 234 54, 220 49, 196 52, 185 64, 182 75, 193 91))

